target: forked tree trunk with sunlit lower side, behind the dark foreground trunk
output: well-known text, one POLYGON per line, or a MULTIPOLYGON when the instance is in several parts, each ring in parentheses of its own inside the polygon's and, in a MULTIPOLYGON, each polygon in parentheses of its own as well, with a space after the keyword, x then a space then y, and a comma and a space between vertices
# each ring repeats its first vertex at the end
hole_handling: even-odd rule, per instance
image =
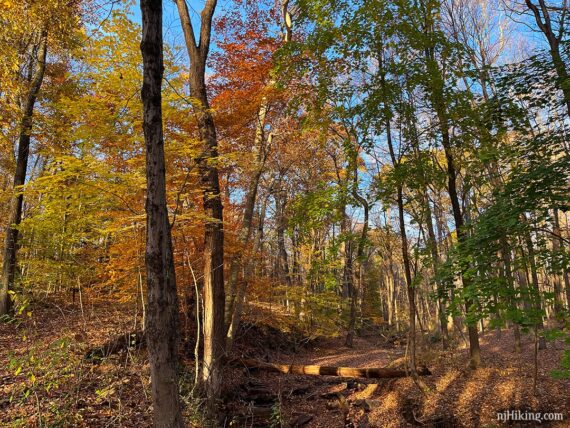
POLYGON ((216 126, 206 89, 206 60, 210 50, 212 17, 216 0, 207 0, 200 14, 199 40, 185 0, 176 0, 186 49, 190 58, 190 93, 196 100, 194 112, 203 153, 198 158, 203 189, 206 225, 204 233, 204 358, 202 381, 208 397, 211 415, 221 392, 221 362, 225 353, 225 290, 224 290, 224 231, 223 206, 218 174, 218 141, 216 126))

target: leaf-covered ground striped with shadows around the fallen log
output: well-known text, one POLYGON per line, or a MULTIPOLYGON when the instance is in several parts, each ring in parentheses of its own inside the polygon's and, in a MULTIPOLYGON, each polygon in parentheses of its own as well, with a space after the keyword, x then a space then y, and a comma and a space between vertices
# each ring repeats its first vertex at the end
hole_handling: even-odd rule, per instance
MULTIPOLYGON (((293 425, 307 421, 305 427, 498 426, 497 413, 517 409, 562 413, 566 422, 543 422, 540 426, 570 426, 570 381, 550 376, 560 362, 560 343, 550 343, 539 355, 536 396, 532 391, 530 337, 525 338, 521 355, 512 351, 509 332, 482 335, 481 344, 484 366, 476 372, 467 367, 466 349, 442 352, 436 349, 437 344, 431 349, 424 347, 419 361, 433 371, 425 378, 432 389, 427 397, 409 378, 353 380, 254 372, 250 373, 250 382, 259 382, 280 397, 280 404, 273 409, 274 413, 279 410, 279 418, 293 425)), ((295 356, 277 355, 275 362, 384 367, 403 364, 404 352, 403 347, 366 339, 358 339, 350 349, 342 345, 341 339, 335 339, 319 342, 295 356)), ((255 426, 255 419, 248 422, 255 426)))

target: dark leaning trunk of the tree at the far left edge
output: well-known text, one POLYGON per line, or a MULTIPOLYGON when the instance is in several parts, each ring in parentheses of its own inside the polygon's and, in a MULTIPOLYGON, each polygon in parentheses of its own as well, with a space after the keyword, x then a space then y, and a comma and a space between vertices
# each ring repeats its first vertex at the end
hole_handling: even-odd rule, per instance
POLYGON ((24 111, 20 122, 20 135, 18 138, 18 155, 16 158, 16 172, 14 174, 14 190, 17 192, 12 200, 10 209, 10 224, 6 231, 4 246, 4 259, 2 266, 2 287, 0 288, 0 316, 11 311, 10 291, 14 286, 16 274, 16 255, 18 251, 18 226, 22 221, 22 205, 24 195, 21 193, 21 186, 26 181, 28 170, 28 159, 30 155, 30 140, 32 133, 32 117, 34 106, 45 74, 47 56, 47 31, 40 34, 37 46, 35 72, 31 76, 30 88, 24 105, 24 111))

